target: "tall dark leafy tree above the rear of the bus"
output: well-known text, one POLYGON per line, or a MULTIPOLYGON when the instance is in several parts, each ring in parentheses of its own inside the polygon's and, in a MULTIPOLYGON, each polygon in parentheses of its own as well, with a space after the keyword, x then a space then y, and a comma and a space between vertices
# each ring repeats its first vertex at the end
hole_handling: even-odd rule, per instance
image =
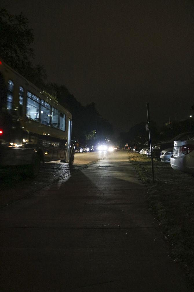
POLYGON ((0 57, 26 79, 41 87, 46 80, 42 65, 33 66, 34 36, 28 27, 28 19, 20 13, 11 15, 6 8, 0 9, 0 57))

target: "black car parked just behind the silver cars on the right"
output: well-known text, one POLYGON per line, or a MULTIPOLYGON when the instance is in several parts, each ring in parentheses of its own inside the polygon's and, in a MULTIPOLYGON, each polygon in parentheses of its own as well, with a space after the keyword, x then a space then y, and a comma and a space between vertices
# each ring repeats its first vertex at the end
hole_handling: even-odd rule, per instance
POLYGON ((190 140, 191 138, 194 138, 194 132, 188 132, 188 133, 181 133, 177 136, 175 136, 174 138, 172 138, 170 141, 168 142, 160 142, 160 143, 156 143, 152 146, 153 149, 153 157, 157 160, 160 160, 160 154, 161 151, 167 148, 170 148, 174 146, 174 141, 178 141, 178 140, 190 140))

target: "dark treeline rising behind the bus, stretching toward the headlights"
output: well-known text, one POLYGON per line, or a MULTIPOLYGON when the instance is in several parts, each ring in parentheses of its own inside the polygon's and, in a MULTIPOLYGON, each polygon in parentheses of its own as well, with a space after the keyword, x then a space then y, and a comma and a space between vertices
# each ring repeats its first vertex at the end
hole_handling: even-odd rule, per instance
POLYGON ((10 15, 1 8, 0 33, 0 58, 71 112, 73 140, 84 144, 87 139, 87 143, 95 144, 112 139, 113 127, 102 118, 94 102, 81 105, 65 85, 47 82, 43 65, 33 65, 31 44, 34 36, 28 27, 28 19, 22 13, 10 15))

